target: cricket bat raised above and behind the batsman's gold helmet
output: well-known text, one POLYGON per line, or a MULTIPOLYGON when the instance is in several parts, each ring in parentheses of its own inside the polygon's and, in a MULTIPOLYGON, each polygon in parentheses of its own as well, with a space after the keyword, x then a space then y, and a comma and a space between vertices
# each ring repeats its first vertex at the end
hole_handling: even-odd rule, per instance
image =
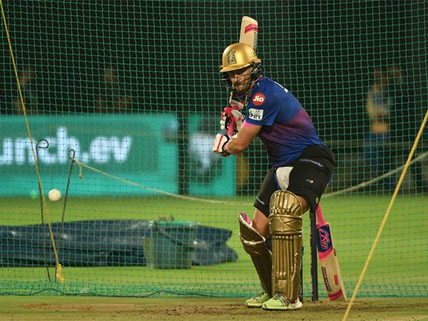
MULTIPOLYGON (((258 37, 257 20, 250 18, 249 16, 243 16, 243 19, 241 21, 239 42, 248 44, 255 50, 257 48, 257 37, 258 37)), ((233 122, 231 122, 228 126, 228 135, 233 136, 233 131, 235 131, 235 127, 236 127, 236 121, 239 121, 239 119, 236 119, 233 116, 232 111, 233 110, 239 111, 240 109, 242 109, 243 103, 240 103, 240 101, 235 101, 231 93, 229 98, 229 104, 230 104, 230 108, 228 108, 228 111, 225 111, 225 112, 228 113, 228 116, 230 116, 230 118, 233 119, 233 122)))

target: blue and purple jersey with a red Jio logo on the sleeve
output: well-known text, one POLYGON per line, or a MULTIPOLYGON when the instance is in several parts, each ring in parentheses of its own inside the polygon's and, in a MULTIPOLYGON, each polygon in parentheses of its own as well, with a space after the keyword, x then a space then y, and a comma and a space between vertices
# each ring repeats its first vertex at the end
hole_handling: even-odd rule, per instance
POLYGON ((258 137, 277 167, 296 161, 307 146, 325 146, 297 98, 267 77, 253 87, 245 122, 262 126, 258 137))

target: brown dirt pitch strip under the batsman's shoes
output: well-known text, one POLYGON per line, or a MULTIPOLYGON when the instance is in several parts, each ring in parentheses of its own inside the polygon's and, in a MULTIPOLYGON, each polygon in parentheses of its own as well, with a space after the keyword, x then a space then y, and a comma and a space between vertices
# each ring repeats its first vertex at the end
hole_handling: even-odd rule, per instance
MULTIPOLYGON (((239 298, 0 297, 0 320, 342 320, 347 303, 304 302, 301 310, 249 309, 239 298)), ((428 297, 361 298, 347 320, 428 320, 428 297)))

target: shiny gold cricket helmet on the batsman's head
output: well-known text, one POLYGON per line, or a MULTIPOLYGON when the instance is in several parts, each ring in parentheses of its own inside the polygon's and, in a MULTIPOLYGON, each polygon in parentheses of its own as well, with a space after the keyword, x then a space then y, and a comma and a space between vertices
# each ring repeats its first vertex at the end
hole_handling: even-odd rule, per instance
POLYGON ((239 42, 238 44, 231 44, 223 51, 222 62, 220 72, 227 73, 228 71, 245 68, 253 63, 260 63, 262 61, 257 57, 251 46, 239 42))

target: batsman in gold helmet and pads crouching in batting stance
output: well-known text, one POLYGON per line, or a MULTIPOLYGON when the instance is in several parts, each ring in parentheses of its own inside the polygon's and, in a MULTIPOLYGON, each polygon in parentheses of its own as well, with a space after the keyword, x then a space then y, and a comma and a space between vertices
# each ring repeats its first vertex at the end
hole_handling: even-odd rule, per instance
POLYGON ((332 178, 335 157, 297 98, 263 75, 261 60, 251 46, 228 46, 220 68, 233 98, 230 102, 239 108, 225 108, 222 129, 233 124, 235 131, 218 133, 213 151, 225 157, 241 153, 257 136, 272 163, 255 197, 253 220, 238 214, 240 240, 263 288, 245 305, 299 309, 302 214, 316 210, 332 178))

